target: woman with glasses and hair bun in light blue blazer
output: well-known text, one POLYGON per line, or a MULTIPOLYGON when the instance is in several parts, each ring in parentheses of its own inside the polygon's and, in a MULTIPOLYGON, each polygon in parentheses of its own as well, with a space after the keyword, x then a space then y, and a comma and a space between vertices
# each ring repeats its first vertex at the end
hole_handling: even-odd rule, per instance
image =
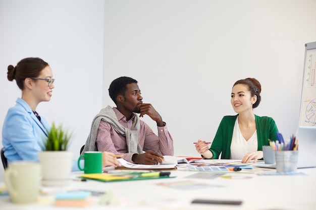
MULTIPOLYGON (((36 112, 42 101, 50 101, 55 88, 52 71, 41 58, 24 58, 14 67, 8 66, 8 80, 16 80, 22 90, 22 97, 8 110, 2 129, 2 144, 8 163, 17 160, 38 161, 43 139, 50 126, 43 116, 36 112)), ((103 153, 103 166, 116 166, 119 161, 114 154, 103 153)), ((73 170, 78 170, 76 161, 73 170)))

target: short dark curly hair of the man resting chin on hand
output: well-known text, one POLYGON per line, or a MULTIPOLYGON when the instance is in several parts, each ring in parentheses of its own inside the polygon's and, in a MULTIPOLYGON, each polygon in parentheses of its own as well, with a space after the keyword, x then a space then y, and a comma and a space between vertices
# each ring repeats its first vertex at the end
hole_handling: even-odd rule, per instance
POLYGON ((117 104, 116 98, 118 97, 118 95, 125 95, 127 85, 131 83, 137 84, 137 81, 130 77, 119 77, 111 83, 109 88, 109 95, 115 104, 117 104))

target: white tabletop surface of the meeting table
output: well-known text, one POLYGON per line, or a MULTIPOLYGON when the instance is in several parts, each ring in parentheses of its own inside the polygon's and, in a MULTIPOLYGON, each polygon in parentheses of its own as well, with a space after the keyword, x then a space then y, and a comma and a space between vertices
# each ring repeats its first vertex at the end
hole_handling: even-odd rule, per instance
MULTIPOLYGON (((211 160, 208 160, 212 162, 211 160)), ((67 190, 96 190, 112 192, 119 200, 112 205, 100 205, 99 197, 94 197, 92 209, 315 209, 316 208, 316 168, 298 169, 305 175, 266 175, 257 173, 276 172, 275 169, 261 169, 254 167, 254 173, 231 172, 226 175, 247 176, 247 179, 215 179, 186 178, 197 172, 175 170, 171 176, 176 178, 99 182, 72 181, 65 187, 44 187, 49 192, 39 196, 39 202, 33 204, 14 204, 9 196, 0 196, 0 209, 84 209, 85 207, 57 207, 54 206, 54 197, 58 192, 67 190), (267 171, 268 170, 268 171, 267 171), (176 183, 179 181, 195 181, 210 184, 202 189, 177 189, 159 186, 157 183, 176 183), (191 204, 194 198, 242 200, 241 205, 219 204, 191 204)), ((76 177, 73 173, 72 177, 76 177)), ((223 174, 224 175, 224 174, 223 174)), ((0 183, 3 186, 4 183, 0 183)))

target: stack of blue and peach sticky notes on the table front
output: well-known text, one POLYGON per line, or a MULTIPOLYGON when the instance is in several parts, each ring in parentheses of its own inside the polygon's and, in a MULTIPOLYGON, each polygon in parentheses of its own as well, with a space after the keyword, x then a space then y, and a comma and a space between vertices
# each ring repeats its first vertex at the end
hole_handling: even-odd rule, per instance
POLYGON ((92 202, 93 197, 88 191, 61 192, 55 198, 55 205, 57 206, 86 207, 90 206, 92 202))

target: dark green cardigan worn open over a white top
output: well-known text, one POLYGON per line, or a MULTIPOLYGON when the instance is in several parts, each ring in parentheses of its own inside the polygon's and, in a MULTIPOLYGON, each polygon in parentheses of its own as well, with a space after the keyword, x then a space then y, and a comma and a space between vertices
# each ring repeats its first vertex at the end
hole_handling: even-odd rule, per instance
MULTIPOLYGON (((230 145, 232 143, 233 130, 238 114, 235 116, 224 116, 214 137, 209 151, 213 153, 212 159, 230 159, 230 145)), ((257 129, 258 149, 262 151, 262 146, 269 145, 268 139, 276 140, 278 127, 271 117, 255 116, 255 126, 257 129)))

